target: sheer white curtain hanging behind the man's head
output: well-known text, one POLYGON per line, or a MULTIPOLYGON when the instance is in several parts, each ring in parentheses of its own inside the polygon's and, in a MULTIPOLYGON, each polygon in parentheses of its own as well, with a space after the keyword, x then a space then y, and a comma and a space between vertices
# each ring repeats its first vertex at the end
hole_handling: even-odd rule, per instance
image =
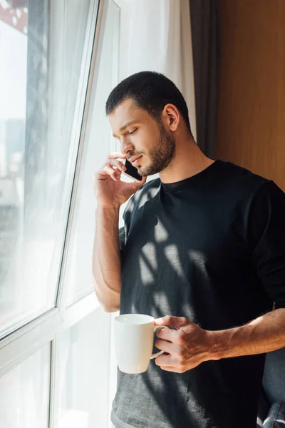
POLYGON ((120 80, 159 71, 182 91, 196 138, 192 36, 188 0, 117 0, 121 8, 120 80))

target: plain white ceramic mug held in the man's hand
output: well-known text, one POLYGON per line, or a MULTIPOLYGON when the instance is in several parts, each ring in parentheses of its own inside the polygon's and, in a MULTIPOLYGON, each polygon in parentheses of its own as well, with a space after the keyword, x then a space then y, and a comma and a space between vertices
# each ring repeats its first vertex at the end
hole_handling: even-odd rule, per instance
POLYGON ((155 325, 155 318, 149 315, 115 317, 115 355, 121 372, 146 372, 150 360, 163 354, 164 351, 152 354, 155 331, 159 328, 168 327, 155 325))

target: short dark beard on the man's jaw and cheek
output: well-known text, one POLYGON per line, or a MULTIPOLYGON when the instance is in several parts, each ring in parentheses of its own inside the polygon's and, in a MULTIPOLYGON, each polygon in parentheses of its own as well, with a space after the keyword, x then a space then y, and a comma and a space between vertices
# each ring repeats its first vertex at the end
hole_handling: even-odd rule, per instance
POLYGON ((150 165, 145 167, 141 165, 138 166, 138 173, 142 177, 160 173, 162 170, 165 170, 175 158, 175 139, 168 135, 162 123, 158 123, 158 127, 160 137, 157 143, 155 143, 155 147, 148 153, 148 157, 151 161, 150 165))

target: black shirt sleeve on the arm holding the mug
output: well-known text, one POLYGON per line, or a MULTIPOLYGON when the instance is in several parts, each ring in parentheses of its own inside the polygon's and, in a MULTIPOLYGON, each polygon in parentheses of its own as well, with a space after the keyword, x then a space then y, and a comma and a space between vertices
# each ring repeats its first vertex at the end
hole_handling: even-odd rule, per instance
POLYGON ((276 309, 285 307, 285 193, 266 181, 252 205, 249 238, 252 262, 276 309))

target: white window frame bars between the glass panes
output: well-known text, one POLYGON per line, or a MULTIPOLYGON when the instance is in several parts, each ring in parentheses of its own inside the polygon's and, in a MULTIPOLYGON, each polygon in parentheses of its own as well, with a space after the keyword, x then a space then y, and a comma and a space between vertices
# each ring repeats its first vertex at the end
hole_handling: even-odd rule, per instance
MULTIPOLYGON (((36 352, 36 350, 40 349, 48 342, 51 343, 51 398, 54 394, 54 340, 56 338, 56 334, 66 328, 72 327, 76 322, 82 320, 83 317, 86 317, 86 315, 90 314, 90 312, 99 306, 98 300, 96 299, 94 292, 92 292, 84 297, 80 296, 81 300, 76 300, 72 305, 66 307, 66 290, 63 287, 66 255, 71 234, 71 220, 76 200, 76 186, 80 172, 80 161, 83 151, 90 96, 93 90, 92 86, 96 84, 98 78, 100 52, 103 42, 108 0, 99 0, 98 9, 95 7, 96 4, 97 2, 95 0, 90 0, 90 10, 86 28, 86 34, 88 36, 86 38, 86 44, 83 51, 83 63, 86 63, 87 66, 82 71, 81 78, 78 83, 80 99, 76 106, 76 120, 73 123, 72 134, 73 141, 78 141, 78 151, 73 153, 72 159, 75 167, 75 174, 71 186, 71 204, 68 211, 68 222, 65 242, 63 245, 61 271, 58 277, 56 307, 43 313, 43 315, 40 315, 35 320, 28 322, 23 327, 11 332, 0 340, 0 378, 14 367, 21 364, 21 362, 26 360, 30 355, 36 352)), ((53 427, 52 403, 53 401, 51 399, 50 427, 53 427)))

